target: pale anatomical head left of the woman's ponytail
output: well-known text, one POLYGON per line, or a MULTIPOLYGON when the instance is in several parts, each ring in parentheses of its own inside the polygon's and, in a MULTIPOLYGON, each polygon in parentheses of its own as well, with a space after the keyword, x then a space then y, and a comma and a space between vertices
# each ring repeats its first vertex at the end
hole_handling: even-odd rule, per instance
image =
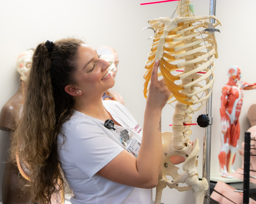
POLYGON ((26 81, 28 78, 28 72, 32 66, 33 53, 34 53, 33 49, 29 49, 19 54, 17 58, 16 68, 21 75, 20 78, 22 81, 26 81))

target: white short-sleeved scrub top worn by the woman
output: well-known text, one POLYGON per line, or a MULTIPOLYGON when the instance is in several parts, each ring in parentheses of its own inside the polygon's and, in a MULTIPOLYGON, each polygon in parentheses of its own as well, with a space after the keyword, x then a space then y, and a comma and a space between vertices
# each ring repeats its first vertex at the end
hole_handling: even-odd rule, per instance
MULTIPOLYGON (((116 101, 102 101, 105 109, 122 126, 141 141, 142 129, 129 111, 116 101)), ((96 173, 115 158, 124 145, 120 134, 107 129, 104 121, 74 111, 71 119, 63 124, 63 137, 58 144, 61 168, 74 196, 72 204, 151 204, 152 190, 135 188, 107 180, 96 173)), ((124 175, 125 176, 125 175, 124 175)))

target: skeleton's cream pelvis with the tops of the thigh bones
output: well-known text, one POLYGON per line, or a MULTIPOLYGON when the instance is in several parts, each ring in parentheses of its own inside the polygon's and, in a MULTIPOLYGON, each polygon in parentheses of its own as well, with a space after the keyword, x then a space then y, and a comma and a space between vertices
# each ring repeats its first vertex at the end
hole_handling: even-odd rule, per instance
POLYGON ((162 190, 168 185, 169 188, 176 188, 178 191, 188 191, 194 189, 195 204, 201 204, 204 199, 204 194, 208 189, 208 183, 205 178, 198 180, 198 172, 196 166, 198 164, 198 153, 200 147, 198 139, 195 139, 193 150, 190 155, 181 155, 179 151, 172 146, 172 132, 162 132, 162 163, 160 175, 158 178, 156 204, 160 204, 162 190), (176 167, 170 160, 172 156, 183 156, 186 161, 182 166, 184 172, 178 173, 176 167), (172 180, 168 180, 166 176, 171 176, 172 180), (186 183, 187 186, 179 187, 179 183, 186 183), (198 185, 200 183, 200 185, 198 185), (199 187, 199 188, 198 188, 199 187), (200 195, 199 195, 200 194, 200 195), (198 199, 196 199, 198 198, 198 199))

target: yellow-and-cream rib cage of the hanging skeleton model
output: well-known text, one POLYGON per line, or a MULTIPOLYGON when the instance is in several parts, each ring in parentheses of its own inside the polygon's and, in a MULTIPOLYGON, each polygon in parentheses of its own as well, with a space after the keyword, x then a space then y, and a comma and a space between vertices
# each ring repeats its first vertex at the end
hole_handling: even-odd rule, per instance
POLYGON ((210 35, 201 39, 196 38, 197 36, 201 37, 201 34, 204 33, 204 30, 199 32, 197 29, 200 27, 206 28, 208 23, 203 20, 194 26, 193 23, 196 22, 198 21, 178 24, 168 17, 149 21, 151 27, 157 30, 157 34, 154 36, 153 44, 150 47, 151 52, 148 55, 148 61, 145 66, 147 70, 144 74, 144 79, 146 80, 143 91, 144 97, 146 97, 147 94, 154 61, 159 59, 161 72, 158 73, 158 76, 163 76, 166 81, 166 86, 172 92, 169 100, 174 97, 175 99, 171 102, 178 100, 187 105, 194 105, 197 103, 204 105, 203 102, 205 103, 206 99, 212 93, 212 91, 208 93, 207 89, 212 87, 215 79, 213 73, 215 65, 213 64, 213 61, 215 59, 216 51, 214 41, 210 35), (165 24, 168 24, 168 28, 166 28, 165 24), (170 30, 172 28, 174 29, 170 30), (166 33, 168 34, 166 35, 166 33), (198 45, 200 43, 203 43, 203 45, 198 45), (206 48, 208 49, 208 52, 203 52, 202 50, 206 48), (185 59, 186 62, 176 63, 181 59, 185 59), (212 69, 208 69, 211 64, 212 69), (175 70, 184 70, 184 72, 174 75, 171 72, 175 70), (197 74, 197 72, 202 71, 206 72, 206 74, 197 74), (209 80, 209 75, 212 75, 212 80, 209 80), (187 84, 175 83, 175 81, 187 77, 193 77, 193 81, 187 84), (206 81, 206 86, 198 84, 203 80, 206 81), (195 87, 198 87, 199 90, 194 91, 195 87), (184 92, 182 91, 184 89, 190 89, 191 93, 182 93, 184 92), (202 92, 206 92, 204 98, 198 96, 198 94, 202 92))

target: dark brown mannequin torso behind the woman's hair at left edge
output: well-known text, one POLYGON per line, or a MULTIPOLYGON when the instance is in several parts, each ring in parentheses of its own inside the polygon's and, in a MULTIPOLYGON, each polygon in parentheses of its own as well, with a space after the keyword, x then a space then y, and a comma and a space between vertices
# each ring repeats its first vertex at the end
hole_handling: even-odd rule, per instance
MULTIPOLYGON (((14 124, 14 110, 19 105, 19 93, 16 92, 0 112, 0 130, 10 136, 14 124)), ((9 137, 10 138, 10 137, 9 137)), ((9 147, 8 147, 9 148, 9 147)), ((7 149, 8 149, 7 148, 7 149)), ((5 164, 2 184, 3 204, 30 204, 28 193, 19 188, 19 169, 12 161, 5 164)))

